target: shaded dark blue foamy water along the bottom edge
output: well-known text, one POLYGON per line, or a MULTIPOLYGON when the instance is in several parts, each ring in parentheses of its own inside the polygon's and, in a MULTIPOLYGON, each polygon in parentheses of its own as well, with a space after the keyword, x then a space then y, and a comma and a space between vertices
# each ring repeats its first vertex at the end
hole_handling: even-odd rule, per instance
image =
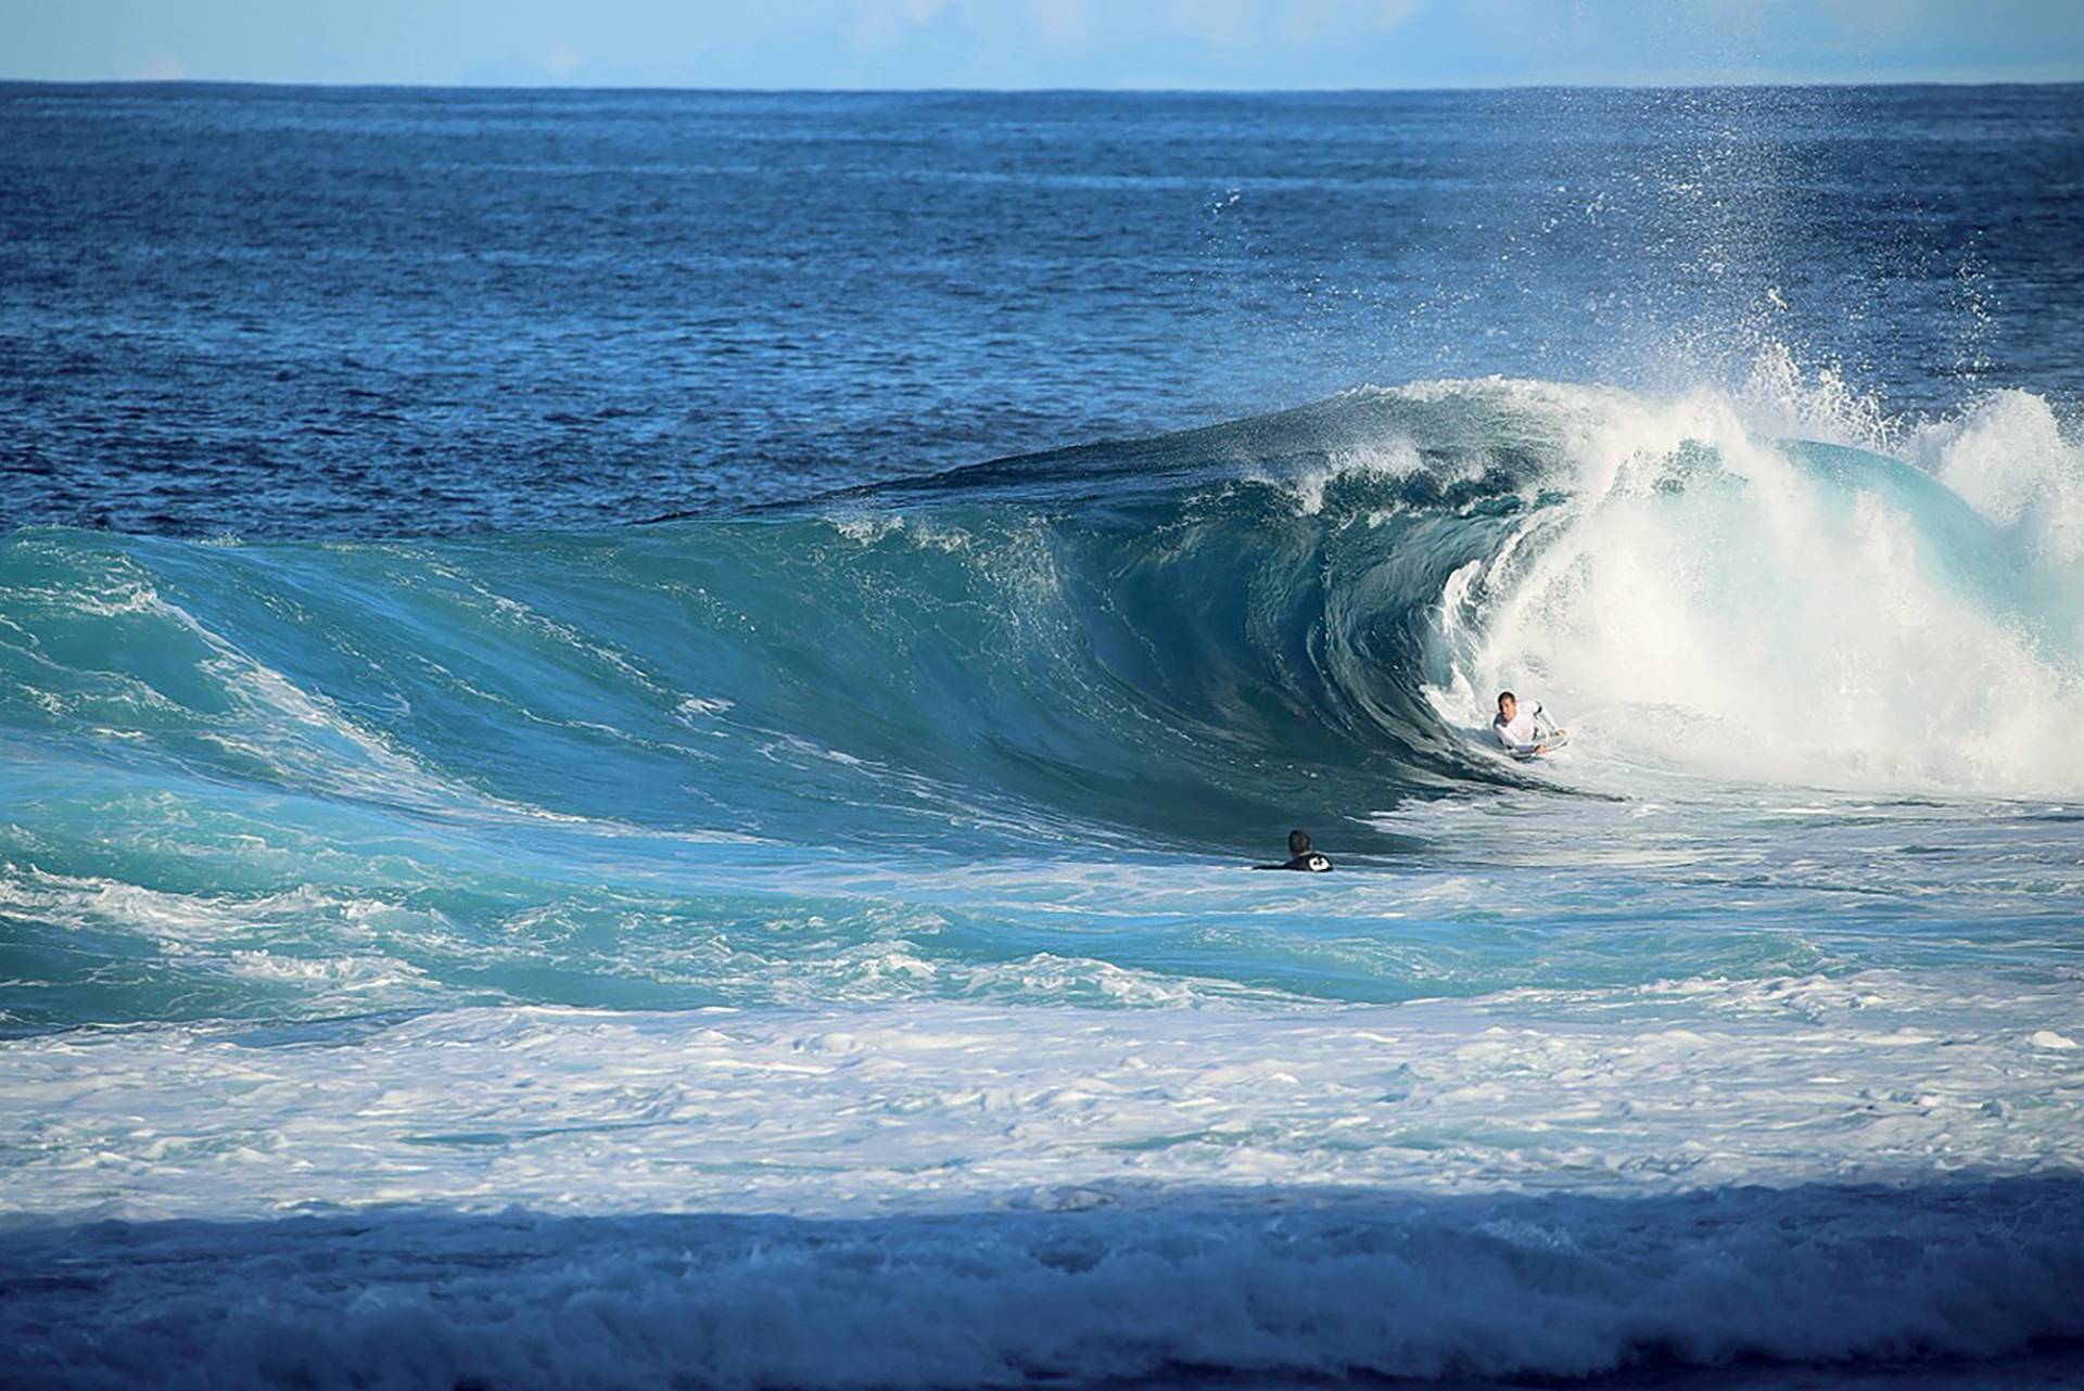
POLYGON ((746 1391, 1844 1372, 2084 1339, 2074 1174, 1109 1197, 938 1220, 390 1212, 6 1233, 0 1331, 19 1387, 746 1391))

